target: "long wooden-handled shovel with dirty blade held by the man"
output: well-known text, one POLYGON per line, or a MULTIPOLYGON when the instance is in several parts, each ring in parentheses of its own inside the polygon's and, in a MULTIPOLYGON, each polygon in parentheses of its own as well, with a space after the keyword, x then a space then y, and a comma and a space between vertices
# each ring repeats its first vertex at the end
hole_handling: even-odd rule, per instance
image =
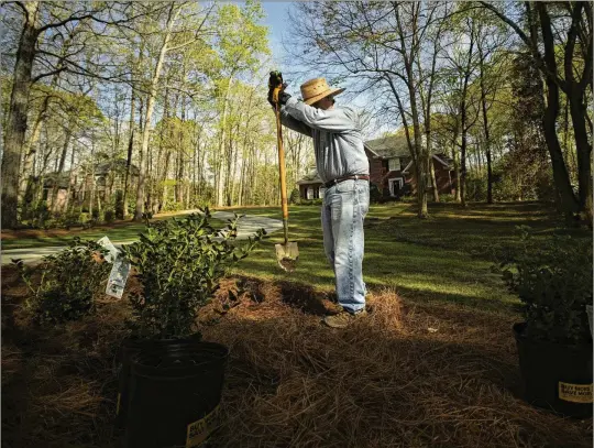
POLYGON ((275 244, 276 260, 278 265, 287 272, 295 271, 297 260, 299 259, 299 248, 296 241, 288 240, 288 201, 287 201, 287 181, 285 178, 285 151, 283 149, 283 131, 280 127, 280 105, 278 103, 278 94, 282 86, 277 86, 273 92, 273 101, 276 113, 276 139, 278 145, 278 171, 280 177, 280 204, 283 208, 283 228, 285 230, 285 243, 275 244))

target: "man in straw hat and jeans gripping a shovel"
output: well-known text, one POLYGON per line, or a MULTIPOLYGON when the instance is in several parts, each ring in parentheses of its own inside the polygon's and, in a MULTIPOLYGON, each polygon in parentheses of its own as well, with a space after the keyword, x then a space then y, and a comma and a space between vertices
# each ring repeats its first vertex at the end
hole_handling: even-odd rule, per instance
MULTIPOLYGON (((271 73, 268 100, 274 86, 282 85, 271 73)), ((324 78, 301 85, 302 101, 283 91, 278 96, 284 125, 314 139, 318 175, 326 186, 321 220, 326 256, 334 270, 338 302, 342 312, 326 316, 324 323, 344 328, 366 315, 363 282, 363 219, 370 208, 370 163, 363 149, 359 114, 334 107, 344 89, 330 88, 324 78)), ((274 106, 274 103, 273 103, 274 106)))

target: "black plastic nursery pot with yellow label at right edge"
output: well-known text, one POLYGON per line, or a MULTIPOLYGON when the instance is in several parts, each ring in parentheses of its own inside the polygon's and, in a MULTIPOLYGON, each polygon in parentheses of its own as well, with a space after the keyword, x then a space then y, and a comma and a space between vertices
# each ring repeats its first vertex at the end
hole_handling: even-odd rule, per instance
POLYGON ((558 414, 592 416, 592 342, 562 345, 531 340, 526 323, 514 325, 525 400, 558 414))

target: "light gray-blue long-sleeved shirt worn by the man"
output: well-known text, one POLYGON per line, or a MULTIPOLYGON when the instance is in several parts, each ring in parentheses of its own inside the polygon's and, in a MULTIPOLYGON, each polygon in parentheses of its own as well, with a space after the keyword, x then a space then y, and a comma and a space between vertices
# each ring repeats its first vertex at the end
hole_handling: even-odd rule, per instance
POLYGON ((359 114, 351 108, 316 109, 292 97, 280 108, 287 128, 314 139, 316 167, 323 182, 355 174, 370 174, 363 149, 359 114))

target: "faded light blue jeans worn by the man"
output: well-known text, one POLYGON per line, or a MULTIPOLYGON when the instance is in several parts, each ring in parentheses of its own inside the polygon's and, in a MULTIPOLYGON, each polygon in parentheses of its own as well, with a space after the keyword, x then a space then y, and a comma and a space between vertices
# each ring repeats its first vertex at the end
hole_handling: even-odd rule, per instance
POLYGON ((363 219, 369 209, 367 181, 344 181, 324 192, 323 248, 334 270, 338 302, 349 313, 365 307, 363 219))

